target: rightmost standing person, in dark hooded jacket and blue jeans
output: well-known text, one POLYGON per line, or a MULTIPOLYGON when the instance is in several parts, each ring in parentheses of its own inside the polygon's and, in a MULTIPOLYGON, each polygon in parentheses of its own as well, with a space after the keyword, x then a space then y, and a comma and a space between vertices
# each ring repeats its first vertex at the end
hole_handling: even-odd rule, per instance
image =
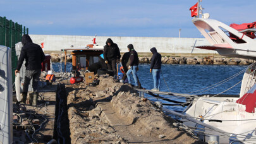
POLYGON ((160 89, 160 71, 161 71, 161 64, 162 64, 162 56, 157 52, 155 47, 152 47, 150 49, 153 56, 151 58, 151 64, 150 64, 150 73, 153 74, 153 80, 154 80, 154 88, 153 91, 159 91, 160 89))

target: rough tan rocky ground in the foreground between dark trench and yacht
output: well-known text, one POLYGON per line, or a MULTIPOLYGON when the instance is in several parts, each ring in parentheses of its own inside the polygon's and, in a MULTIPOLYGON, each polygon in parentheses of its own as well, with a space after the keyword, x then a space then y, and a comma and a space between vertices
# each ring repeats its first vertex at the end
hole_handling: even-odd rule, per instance
POLYGON ((127 84, 66 86, 71 143, 204 143, 127 84))

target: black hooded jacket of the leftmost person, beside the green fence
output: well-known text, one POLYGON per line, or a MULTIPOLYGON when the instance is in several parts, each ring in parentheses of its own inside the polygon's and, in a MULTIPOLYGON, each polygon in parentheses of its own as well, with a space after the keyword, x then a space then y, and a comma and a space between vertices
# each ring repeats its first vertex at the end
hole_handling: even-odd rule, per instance
POLYGON ((29 35, 23 35, 21 43, 23 44, 23 47, 21 48, 20 58, 16 69, 20 71, 24 59, 26 60, 25 66, 27 70, 41 69, 41 63, 46 58, 42 48, 39 45, 34 44, 29 35))

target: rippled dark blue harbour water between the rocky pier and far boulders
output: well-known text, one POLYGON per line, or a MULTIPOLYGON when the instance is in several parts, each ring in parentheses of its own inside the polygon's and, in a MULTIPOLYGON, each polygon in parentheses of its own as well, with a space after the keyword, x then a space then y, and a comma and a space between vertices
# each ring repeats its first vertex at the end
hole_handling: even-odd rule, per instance
MULTIPOLYGON (((59 71, 59 65, 60 63, 52 63, 54 71, 59 71)), ((70 71, 70 68, 71 63, 68 63, 68 71, 70 71)), ((169 90, 171 90, 171 92, 175 93, 191 93, 197 95, 221 93, 241 81, 243 78, 243 73, 236 76, 236 78, 233 78, 232 80, 229 80, 228 82, 219 85, 216 88, 212 88, 209 91, 200 93, 195 91, 214 85, 215 83, 225 80, 226 78, 229 78, 230 76, 233 76, 246 68, 247 66, 163 64, 161 68, 162 74, 160 90, 165 92, 169 92, 169 90), (166 83, 164 82, 164 80, 166 81, 166 83)), ((142 83, 142 87, 146 89, 152 89, 154 87, 152 73, 149 72, 149 69, 150 64, 140 64, 138 71, 138 78, 140 80, 140 83, 142 83)), ((240 93, 240 87, 241 83, 222 94, 238 95, 240 93)), ((176 99, 173 97, 169 98, 185 102, 185 99, 176 99)), ((156 100, 154 98, 151 99, 156 100)), ((185 109, 184 107, 168 108, 178 112, 185 109)))

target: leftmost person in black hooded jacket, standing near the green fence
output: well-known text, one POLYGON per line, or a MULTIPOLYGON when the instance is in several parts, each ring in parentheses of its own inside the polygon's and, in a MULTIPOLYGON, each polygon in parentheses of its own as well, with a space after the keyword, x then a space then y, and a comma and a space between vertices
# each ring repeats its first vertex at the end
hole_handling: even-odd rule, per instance
POLYGON ((34 90, 34 97, 32 105, 37 105, 37 97, 39 95, 37 85, 42 69, 41 63, 45 59, 44 52, 39 45, 32 42, 30 36, 27 34, 22 36, 21 43, 23 44, 23 47, 21 48, 20 58, 15 70, 15 75, 16 73, 20 73, 20 68, 25 59, 26 71, 21 101, 24 104, 26 103, 28 85, 30 84, 30 80, 33 78, 32 87, 34 90))

